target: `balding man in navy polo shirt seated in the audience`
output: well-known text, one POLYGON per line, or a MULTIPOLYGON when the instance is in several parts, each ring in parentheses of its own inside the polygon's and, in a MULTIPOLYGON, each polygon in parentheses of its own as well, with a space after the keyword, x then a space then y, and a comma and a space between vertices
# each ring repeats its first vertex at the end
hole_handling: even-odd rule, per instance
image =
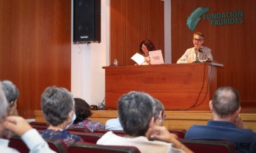
POLYGON ((194 140, 230 141, 238 153, 256 152, 256 133, 246 129, 239 112, 240 96, 232 87, 216 90, 209 103, 213 119, 207 125, 193 125, 185 138, 194 140))

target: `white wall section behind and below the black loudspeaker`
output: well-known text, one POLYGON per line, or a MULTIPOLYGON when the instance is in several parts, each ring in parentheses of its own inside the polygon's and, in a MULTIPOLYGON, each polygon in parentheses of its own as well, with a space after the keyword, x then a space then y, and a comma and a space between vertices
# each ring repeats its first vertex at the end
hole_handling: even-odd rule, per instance
MULTIPOLYGON (((73 3, 71 18, 73 20, 73 3)), ((105 97, 102 67, 109 65, 109 23, 109 0, 101 0, 101 42, 73 44, 71 38, 71 93, 89 105, 98 105, 105 97)))

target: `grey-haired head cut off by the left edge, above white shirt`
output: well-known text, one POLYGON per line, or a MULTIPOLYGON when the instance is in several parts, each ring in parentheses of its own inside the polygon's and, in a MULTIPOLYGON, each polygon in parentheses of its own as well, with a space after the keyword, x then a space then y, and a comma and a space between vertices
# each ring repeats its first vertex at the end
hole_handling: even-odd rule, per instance
MULTIPOLYGON (((0 86, 2 86, 1 82, 0 82, 0 86)), ((8 108, 9 108, 9 105, 8 105, 7 99, 5 97, 3 89, 0 88, 0 132, 3 130, 2 124, 4 122, 4 119, 7 116, 8 108)))

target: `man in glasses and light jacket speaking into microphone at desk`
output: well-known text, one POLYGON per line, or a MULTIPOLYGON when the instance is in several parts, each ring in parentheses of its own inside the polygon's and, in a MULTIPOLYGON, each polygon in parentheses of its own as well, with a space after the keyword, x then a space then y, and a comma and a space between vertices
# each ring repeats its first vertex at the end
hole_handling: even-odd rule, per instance
POLYGON ((204 34, 196 32, 193 35, 193 48, 189 48, 183 54, 183 56, 178 59, 177 64, 180 63, 193 63, 201 61, 213 61, 213 56, 211 55, 211 49, 203 46, 205 42, 204 34))

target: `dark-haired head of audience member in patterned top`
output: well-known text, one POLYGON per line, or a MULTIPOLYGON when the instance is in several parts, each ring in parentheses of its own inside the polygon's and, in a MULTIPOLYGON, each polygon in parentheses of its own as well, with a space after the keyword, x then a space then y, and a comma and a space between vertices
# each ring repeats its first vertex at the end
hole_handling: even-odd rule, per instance
POLYGON ((76 120, 74 121, 74 124, 76 124, 84 121, 84 119, 87 119, 89 116, 92 116, 92 111, 89 104, 85 100, 81 98, 74 98, 74 100, 76 111, 76 120))

